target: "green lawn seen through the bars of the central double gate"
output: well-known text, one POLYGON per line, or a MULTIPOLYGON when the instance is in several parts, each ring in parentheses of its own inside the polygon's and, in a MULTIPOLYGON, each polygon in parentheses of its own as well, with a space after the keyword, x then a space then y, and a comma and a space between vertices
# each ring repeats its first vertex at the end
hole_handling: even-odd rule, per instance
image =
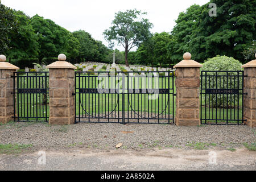
MULTIPOLYGON (((152 87, 155 88, 155 84, 159 85, 160 89, 172 88, 174 85, 174 80, 172 77, 159 77, 159 80, 152 80, 152 87), (168 85, 169 82, 169 85, 168 85)), ((120 88, 120 92, 122 92, 122 78, 118 80, 113 80, 112 78, 106 78, 102 80, 98 80, 98 77, 77 77, 76 85, 77 88, 98 88, 98 84, 100 82, 104 82, 105 85, 109 85, 108 88, 115 89, 120 88), (118 84, 119 82, 119 84, 118 84)), ((129 83, 129 88, 133 86, 134 89, 144 89, 144 88, 152 88, 148 81, 143 80, 143 78, 130 78, 126 79, 125 82, 129 83)), ((102 86, 104 88, 104 85, 102 86)), ((127 88, 127 85, 125 85, 127 88)), ((76 90, 79 92, 79 90, 76 90)), ((127 90, 126 90, 127 91, 127 90)), ((175 93, 175 86, 174 91, 170 90, 170 93, 175 93)), ((164 114, 173 114, 174 109, 172 106, 175 103, 175 100, 172 94, 169 94, 169 101, 168 102, 168 94, 117 94, 117 93, 103 93, 103 94, 77 94, 76 95, 76 114, 101 114, 101 113, 108 113, 109 111, 122 111, 123 108, 125 111, 141 111, 141 112, 151 112, 151 113, 162 113, 164 114), (123 98, 124 97, 124 107, 123 106, 123 98), (129 100, 128 100, 129 98, 129 100), (80 101, 80 103, 79 103, 80 101), (129 101, 129 102, 128 102, 129 101), (80 105, 79 105, 80 104, 80 105), (80 109, 80 110, 79 110, 80 109)))

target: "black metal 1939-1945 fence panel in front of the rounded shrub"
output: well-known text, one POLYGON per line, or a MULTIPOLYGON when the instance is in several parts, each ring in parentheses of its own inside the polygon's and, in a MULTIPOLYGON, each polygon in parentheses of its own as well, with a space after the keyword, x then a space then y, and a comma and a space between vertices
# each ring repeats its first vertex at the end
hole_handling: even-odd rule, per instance
POLYGON ((201 71, 201 123, 243 123, 243 71, 201 71))

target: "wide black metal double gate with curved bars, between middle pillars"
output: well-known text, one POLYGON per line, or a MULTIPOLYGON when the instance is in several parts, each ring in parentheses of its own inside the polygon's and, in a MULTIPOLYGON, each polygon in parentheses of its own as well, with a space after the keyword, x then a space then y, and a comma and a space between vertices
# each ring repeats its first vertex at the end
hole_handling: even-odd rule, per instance
POLYGON ((76 122, 174 123, 174 72, 75 72, 76 122))

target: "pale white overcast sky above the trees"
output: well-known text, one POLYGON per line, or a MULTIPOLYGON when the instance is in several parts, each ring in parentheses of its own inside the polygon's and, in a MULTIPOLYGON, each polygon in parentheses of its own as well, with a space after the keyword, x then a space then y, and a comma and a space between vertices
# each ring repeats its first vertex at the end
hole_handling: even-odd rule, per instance
MULTIPOLYGON (((38 14, 73 32, 85 30, 96 40, 108 43, 102 34, 111 26, 115 13, 129 9, 147 12, 155 32, 170 32, 180 12, 193 4, 204 5, 209 0, 2 0, 3 5, 21 10, 28 16, 38 14)), ((124 51, 122 46, 114 48, 124 51)), ((133 49, 135 51, 136 48, 133 49)))

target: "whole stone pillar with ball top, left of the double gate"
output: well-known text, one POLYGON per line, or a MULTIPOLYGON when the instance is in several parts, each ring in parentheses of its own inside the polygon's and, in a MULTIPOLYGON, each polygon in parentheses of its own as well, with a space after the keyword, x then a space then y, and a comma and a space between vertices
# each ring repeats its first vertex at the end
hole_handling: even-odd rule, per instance
POLYGON ((76 67, 60 54, 59 61, 49 68, 49 124, 71 125, 75 122, 75 72, 76 67))

